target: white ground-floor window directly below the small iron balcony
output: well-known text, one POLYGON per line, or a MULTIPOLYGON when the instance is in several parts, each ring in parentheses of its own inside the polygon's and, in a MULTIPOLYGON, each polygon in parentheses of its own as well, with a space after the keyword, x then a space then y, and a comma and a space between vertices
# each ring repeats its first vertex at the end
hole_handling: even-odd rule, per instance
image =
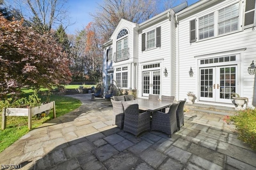
POLYGON ((116 83, 120 88, 128 87, 128 66, 116 68, 116 83))

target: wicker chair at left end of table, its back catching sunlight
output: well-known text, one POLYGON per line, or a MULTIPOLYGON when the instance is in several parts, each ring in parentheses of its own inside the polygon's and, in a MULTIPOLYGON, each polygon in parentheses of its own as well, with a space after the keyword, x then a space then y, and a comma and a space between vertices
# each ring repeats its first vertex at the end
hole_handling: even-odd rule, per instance
POLYGON ((124 107, 122 101, 114 101, 110 99, 113 105, 113 123, 112 125, 116 125, 122 129, 124 127, 124 107))

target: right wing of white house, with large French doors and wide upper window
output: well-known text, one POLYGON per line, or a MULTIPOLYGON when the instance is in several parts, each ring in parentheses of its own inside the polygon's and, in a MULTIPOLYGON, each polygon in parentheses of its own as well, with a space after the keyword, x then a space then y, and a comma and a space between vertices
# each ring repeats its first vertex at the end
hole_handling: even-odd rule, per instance
POLYGON ((234 107, 237 93, 256 105, 255 16, 255 0, 200 0, 176 14, 176 98, 234 107))

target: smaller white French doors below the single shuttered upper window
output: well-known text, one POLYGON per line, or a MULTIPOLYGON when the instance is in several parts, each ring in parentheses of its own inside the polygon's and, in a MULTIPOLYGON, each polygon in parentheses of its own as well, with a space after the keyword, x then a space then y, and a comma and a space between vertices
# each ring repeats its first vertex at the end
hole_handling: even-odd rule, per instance
POLYGON ((142 96, 160 95, 160 70, 144 71, 142 74, 142 96))

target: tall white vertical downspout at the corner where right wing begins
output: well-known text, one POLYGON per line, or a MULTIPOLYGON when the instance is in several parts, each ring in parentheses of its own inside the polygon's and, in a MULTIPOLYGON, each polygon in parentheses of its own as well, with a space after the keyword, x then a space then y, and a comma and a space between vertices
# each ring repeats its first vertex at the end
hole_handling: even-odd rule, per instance
MULTIPOLYGON (((177 66, 177 69, 176 69, 176 71, 177 71, 177 73, 176 73, 176 75, 177 75, 177 79, 176 79, 176 87, 177 87, 177 97, 178 97, 178 100, 180 99, 180 58, 179 58, 179 56, 180 56, 180 53, 179 53, 179 51, 180 51, 180 46, 179 46, 179 22, 178 22, 178 16, 176 15, 175 16, 175 20, 176 20, 176 24, 177 24, 177 37, 176 37, 176 42, 177 42, 177 44, 176 44, 176 47, 177 47, 177 50, 176 50, 176 61, 177 61, 177 64, 176 64, 176 66, 177 66)), ((177 100, 177 98, 176 98, 176 100, 177 100)))

